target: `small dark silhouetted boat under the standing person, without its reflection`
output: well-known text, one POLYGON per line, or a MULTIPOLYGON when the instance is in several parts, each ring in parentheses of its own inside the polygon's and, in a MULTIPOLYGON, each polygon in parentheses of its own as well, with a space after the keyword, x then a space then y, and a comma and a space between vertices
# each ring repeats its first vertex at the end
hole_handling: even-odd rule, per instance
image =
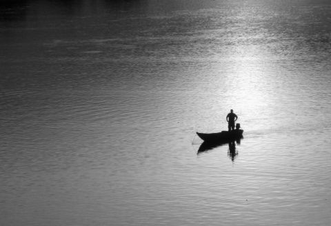
POLYGON ((228 143, 243 138, 243 130, 222 131, 212 134, 197 132, 197 135, 205 142, 228 143))

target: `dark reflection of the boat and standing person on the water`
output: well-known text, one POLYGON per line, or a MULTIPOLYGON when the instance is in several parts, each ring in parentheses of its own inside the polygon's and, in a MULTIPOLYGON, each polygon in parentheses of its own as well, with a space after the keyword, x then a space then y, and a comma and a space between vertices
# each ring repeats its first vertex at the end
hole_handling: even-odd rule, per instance
POLYGON ((203 143, 201 143, 197 154, 201 154, 201 152, 206 152, 208 150, 212 150, 215 147, 228 145, 229 146, 228 156, 231 158, 232 161, 234 161, 234 158, 236 158, 236 156, 238 155, 238 151, 236 150, 236 144, 240 145, 241 139, 243 139, 243 136, 241 136, 240 138, 237 138, 235 140, 224 140, 224 141, 217 141, 217 142, 204 141, 203 143))

